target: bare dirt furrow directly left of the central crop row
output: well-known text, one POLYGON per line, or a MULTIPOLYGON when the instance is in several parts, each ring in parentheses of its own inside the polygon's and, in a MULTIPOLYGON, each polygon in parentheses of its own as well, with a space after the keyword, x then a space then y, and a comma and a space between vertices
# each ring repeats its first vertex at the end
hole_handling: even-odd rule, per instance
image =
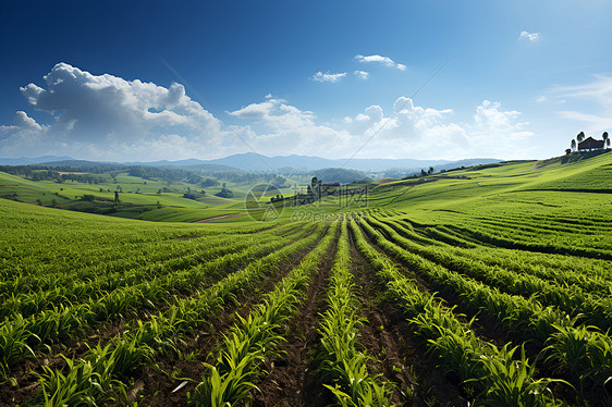
POLYGON ((257 384, 261 392, 255 393, 253 406, 323 407, 333 402, 320 384, 313 359, 319 348, 317 321, 327 307, 328 278, 336 245, 338 238, 308 284, 306 299, 289 323, 286 343, 280 347, 280 356, 266 361, 265 370, 269 374, 257 384))

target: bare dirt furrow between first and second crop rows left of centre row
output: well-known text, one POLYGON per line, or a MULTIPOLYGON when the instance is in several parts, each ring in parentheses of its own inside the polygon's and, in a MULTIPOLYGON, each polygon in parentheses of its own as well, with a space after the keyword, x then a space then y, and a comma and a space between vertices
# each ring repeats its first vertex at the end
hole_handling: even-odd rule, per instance
MULTIPOLYGON (((327 232, 323 232, 323 235, 327 232)), ((201 382, 207 368, 203 363, 213 365, 223 344, 223 333, 238 320, 237 316, 247 317, 252 307, 265 293, 274 286, 311 250, 311 247, 294 256, 272 275, 262 278, 245 287, 236 295, 233 303, 228 303, 221 314, 194 330, 195 336, 186 337, 178 348, 183 357, 173 351, 156 358, 155 366, 145 366, 142 374, 135 378, 131 390, 131 399, 149 407, 185 406, 187 393, 194 394, 195 386, 201 382), (173 393, 184 381, 187 383, 173 393)))

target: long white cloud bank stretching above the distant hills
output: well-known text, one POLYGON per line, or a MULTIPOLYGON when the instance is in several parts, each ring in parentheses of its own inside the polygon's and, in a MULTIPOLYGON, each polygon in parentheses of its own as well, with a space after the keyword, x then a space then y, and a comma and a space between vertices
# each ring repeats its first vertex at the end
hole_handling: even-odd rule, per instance
MULTIPOLYGON (((371 61, 393 63, 380 58, 371 61)), ((345 75, 320 73, 323 82, 345 75)), ((365 71, 354 75, 367 78, 365 71)), ((228 127, 192 100, 181 84, 164 87, 94 75, 65 63, 53 66, 42 86, 30 83, 21 90, 35 116, 48 120, 37 122, 33 114, 15 112, 11 124, 0 125, 0 157, 208 159, 246 152, 248 144, 265 155, 345 158, 366 145, 358 157, 511 158, 509 151, 516 157, 524 153, 517 140, 533 135, 518 111, 505 110, 499 102, 485 100, 462 122, 452 109, 421 107, 406 97, 397 98, 387 111, 371 104, 353 115, 321 122, 315 112, 268 94, 225 112, 235 123, 228 127)))

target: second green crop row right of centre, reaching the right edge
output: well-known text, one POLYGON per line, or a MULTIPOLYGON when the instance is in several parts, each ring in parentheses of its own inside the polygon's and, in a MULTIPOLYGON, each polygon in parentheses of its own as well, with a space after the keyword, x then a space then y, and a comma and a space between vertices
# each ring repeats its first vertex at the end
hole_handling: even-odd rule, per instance
POLYGON ((501 293, 481 282, 452 272, 387 240, 369 224, 362 226, 368 236, 402 264, 423 275, 442 294, 452 295, 474 312, 484 311, 498 319, 511 333, 530 337, 546 347, 548 359, 566 371, 580 388, 604 386, 612 377, 612 340, 592 328, 535 298, 501 293))

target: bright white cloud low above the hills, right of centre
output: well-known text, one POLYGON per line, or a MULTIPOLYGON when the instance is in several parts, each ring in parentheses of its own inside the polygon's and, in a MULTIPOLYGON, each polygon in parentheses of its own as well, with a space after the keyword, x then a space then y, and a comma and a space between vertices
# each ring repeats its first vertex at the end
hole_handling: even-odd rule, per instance
POLYGON ((526 130, 528 123, 517 120, 519 114, 502 109, 499 102, 485 100, 476 107, 473 120, 462 123, 452 120, 452 109, 425 108, 411 98, 400 97, 389 115, 380 106, 370 106, 345 118, 343 124, 351 134, 368 143, 372 157, 506 157, 509 150, 517 150, 517 139, 533 135, 526 130))

